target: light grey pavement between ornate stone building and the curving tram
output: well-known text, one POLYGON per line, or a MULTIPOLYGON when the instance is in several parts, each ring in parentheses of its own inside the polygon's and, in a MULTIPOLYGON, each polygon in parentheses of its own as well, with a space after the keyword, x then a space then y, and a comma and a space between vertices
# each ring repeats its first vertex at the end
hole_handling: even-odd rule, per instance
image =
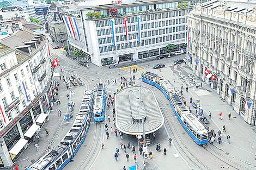
MULTIPOLYGON (((163 68, 161 73, 159 71, 152 72, 163 75, 164 78, 170 80, 170 83, 172 83, 178 91, 181 90, 181 84, 183 84, 183 94, 187 106, 190 106, 192 112, 194 111, 194 108, 190 104, 190 97, 193 98, 193 101, 200 99, 200 106, 202 106, 205 116, 208 116, 209 111, 212 112, 210 123, 208 124, 209 129, 214 128, 215 133, 217 134, 218 129, 222 130, 223 125, 225 125, 227 132, 222 132, 222 144, 218 144, 216 140, 214 146, 224 151, 223 153, 233 157, 236 161, 248 162, 256 165, 256 161, 254 160, 256 152, 256 127, 250 126, 243 121, 243 118, 236 114, 233 108, 227 102, 222 100, 215 90, 210 89, 210 87, 202 81, 202 88, 193 89, 193 87, 189 87, 188 92, 186 92, 186 85, 179 77, 179 74, 187 75, 187 73, 192 73, 190 68, 186 65, 179 67, 179 70, 177 67, 174 68, 174 66, 170 66, 163 68), (175 83, 174 77, 176 79, 175 83), (198 96, 196 92, 203 89, 207 90, 209 95, 204 93, 202 96, 198 96), (218 113, 220 112, 222 112, 222 120, 218 119, 218 113), (231 112, 231 120, 228 118, 229 112, 231 112), (231 137, 230 144, 227 142, 227 135, 230 135, 231 137)), ((197 78, 197 82, 200 83, 201 80, 197 78)))

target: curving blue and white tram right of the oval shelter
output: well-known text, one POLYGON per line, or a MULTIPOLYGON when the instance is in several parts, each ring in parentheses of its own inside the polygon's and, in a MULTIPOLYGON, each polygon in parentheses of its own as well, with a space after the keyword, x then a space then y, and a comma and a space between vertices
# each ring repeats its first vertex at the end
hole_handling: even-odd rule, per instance
POLYGON ((180 98, 178 93, 175 92, 172 84, 163 77, 159 77, 155 73, 142 73, 142 81, 157 87, 161 90, 164 96, 169 100, 173 112, 181 123, 182 127, 193 138, 194 142, 198 145, 208 143, 208 132, 205 126, 198 121, 198 119, 190 113, 184 101, 180 98))

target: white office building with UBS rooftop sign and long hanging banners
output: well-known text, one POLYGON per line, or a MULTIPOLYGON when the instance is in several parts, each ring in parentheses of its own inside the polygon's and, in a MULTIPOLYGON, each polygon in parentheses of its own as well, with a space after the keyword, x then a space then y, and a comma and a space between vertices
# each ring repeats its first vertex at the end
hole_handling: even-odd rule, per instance
POLYGON ((192 6, 179 0, 108 0, 84 1, 77 8, 64 18, 69 43, 104 66, 156 57, 166 53, 168 44, 184 46, 186 15, 192 6), (114 16, 111 8, 118 11, 114 16))

